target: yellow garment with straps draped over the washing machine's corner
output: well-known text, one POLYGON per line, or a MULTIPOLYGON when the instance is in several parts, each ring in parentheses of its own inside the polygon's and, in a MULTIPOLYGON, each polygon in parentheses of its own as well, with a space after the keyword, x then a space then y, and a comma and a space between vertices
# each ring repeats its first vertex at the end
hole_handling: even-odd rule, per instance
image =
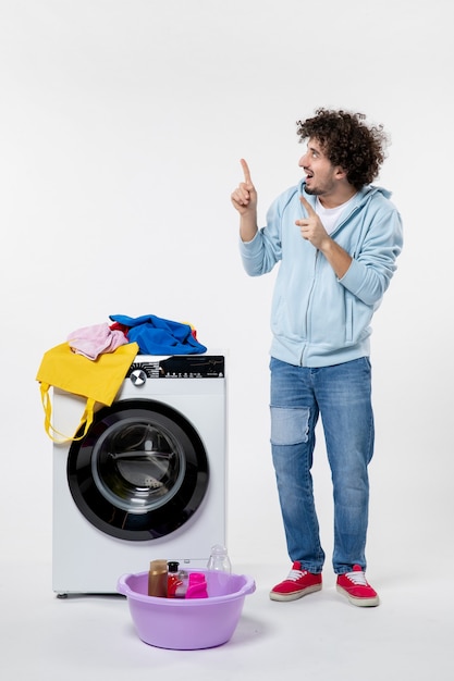
POLYGON ((103 352, 96 360, 73 352, 68 343, 45 352, 36 380, 40 383, 46 433, 53 442, 64 443, 85 437, 93 423, 95 404, 110 407, 137 352, 137 343, 122 345, 113 352, 103 352), (51 424, 51 386, 87 398, 85 411, 72 436, 59 433, 51 424), (84 423, 84 432, 76 436, 84 423), (57 439, 56 435, 62 439, 57 439))

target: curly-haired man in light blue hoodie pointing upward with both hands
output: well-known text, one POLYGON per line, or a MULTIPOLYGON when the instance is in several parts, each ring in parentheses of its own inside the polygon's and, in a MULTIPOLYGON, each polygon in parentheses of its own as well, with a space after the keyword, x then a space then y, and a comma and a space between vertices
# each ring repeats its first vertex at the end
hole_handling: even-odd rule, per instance
POLYGON ((365 116, 318 109, 297 122, 305 178, 272 203, 257 227, 257 191, 246 161, 231 195, 241 255, 251 276, 279 262, 271 327, 271 449, 293 562, 270 592, 294 600, 319 591, 324 552, 311 465, 321 416, 334 498, 333 569, 352 604, 377 606, 366 580, 368 465, 373 453, 370 322, 396 269, 402 223, 390 193, 370 183, 386 137, 365 116))

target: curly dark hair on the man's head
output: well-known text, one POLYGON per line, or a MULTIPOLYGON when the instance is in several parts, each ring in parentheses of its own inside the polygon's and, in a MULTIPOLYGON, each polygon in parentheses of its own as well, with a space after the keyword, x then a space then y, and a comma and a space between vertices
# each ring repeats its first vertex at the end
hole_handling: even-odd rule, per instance
POLYGON ((316 115, 297 121, 299 141, 315 138, 333 165, 341 165, 356 188, 370 184, 385 158, 389 137, 382 125, 367 126, 364 113, 317 109, 316 115))

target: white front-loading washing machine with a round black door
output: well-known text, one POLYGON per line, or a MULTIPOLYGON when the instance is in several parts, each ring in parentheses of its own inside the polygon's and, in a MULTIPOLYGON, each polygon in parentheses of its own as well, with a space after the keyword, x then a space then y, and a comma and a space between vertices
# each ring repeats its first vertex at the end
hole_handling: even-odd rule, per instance
MULTIPOLYGON (((56 429, 74 431, 83 407, 54 389, 56 429)), ((157 558, 206 567, 225 500, 224 355, 137 355, 85 437, 53 445, 53 591, 114 593, 157 558)))

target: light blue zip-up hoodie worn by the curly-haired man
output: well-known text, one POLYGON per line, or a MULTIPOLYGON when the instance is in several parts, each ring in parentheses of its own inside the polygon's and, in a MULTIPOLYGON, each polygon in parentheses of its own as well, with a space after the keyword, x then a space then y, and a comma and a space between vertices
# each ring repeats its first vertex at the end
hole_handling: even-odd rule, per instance
POLYGON ((300 235, 295 220, 306 218, 299 197, 305 181, 284 191, 270 207, 267 225, 241 242, 250 276, 280 262, 271 308, 271 356, 290 364, 329 367, 369 356, 370 322, 386 290, 402 250, 401 216, 391 193, 369 185, 360 189, 331 234, 353 261, 338 278, 324 256, 300 235))

